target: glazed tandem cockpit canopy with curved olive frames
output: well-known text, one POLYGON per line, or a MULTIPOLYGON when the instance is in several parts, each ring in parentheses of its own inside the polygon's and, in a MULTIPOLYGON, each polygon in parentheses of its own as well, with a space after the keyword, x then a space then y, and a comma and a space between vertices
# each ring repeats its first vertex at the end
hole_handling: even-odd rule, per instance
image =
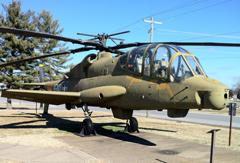
POLYGON ((188 50, 167 44, 143 45, 120 57, 121 67, 134 74, 182 83, 186 79, 206 76, 198 58, 188 50))

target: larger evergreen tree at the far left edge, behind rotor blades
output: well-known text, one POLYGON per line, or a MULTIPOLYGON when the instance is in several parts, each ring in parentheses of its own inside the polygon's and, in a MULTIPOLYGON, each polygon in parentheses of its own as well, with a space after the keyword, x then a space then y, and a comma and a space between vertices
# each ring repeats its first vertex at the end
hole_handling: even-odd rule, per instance
MULTIPOLYGON (((21 11, 21 2, 12 1, 11 4, 2 7, 6 13, 0 15, 0 26, 12 27, 17 29, 36 30, 33 23, 34 12, 28 10, 21 11)), ((29 56, 35 56, 35 40, 29 37, 16 36, 14 34, 0 34, 0 58, 1 62, 12 62, 24 59, 29 56)), ((31 82, 33 74, 28 74, 32 69, 31 63, 22 63, 0 68, 0 82, 7 85, 8 88, 19 88, 21 81, 31 82)), ((11 99, 7 100, 7 108, 12 108, 11 99)))

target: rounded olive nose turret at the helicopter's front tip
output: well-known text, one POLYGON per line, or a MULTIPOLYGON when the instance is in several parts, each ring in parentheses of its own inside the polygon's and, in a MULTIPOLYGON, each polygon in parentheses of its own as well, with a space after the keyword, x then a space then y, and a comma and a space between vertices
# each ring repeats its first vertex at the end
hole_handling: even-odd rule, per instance
POLYGON ((214 110, 223 109, 228 103, 229 90, 227 88, 221 88, 217 90, 222 91, 210 91, 204 94, 203 107, 211 108, 214 110))

